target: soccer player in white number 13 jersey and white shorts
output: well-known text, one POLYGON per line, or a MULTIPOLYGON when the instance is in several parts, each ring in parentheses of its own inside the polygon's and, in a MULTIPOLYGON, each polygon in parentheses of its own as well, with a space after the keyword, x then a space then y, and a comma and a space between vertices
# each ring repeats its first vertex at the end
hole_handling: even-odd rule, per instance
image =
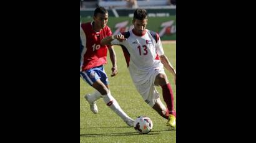
POLYGON ((176 71, 164 55, 159 35, 145 29, 147 25, 147 11, 145 9, 135 10, 132 24, 134 24, 134 29, 105 37, 101 40, 101 45, 121 45, 137 91, 147 104, 168 120, 167 126, 175 127, 174 93, 165 75, 164 67, 172 73, 175 83, 176 71), (160 101, 155 86, 162 87, 167 108, 160 101))

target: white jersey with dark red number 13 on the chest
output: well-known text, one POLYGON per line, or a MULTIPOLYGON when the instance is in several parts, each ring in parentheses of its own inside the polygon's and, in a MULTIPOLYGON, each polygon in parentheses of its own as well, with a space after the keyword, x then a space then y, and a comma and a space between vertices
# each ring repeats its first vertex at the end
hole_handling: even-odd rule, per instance
POLYGON ((119 42, 112 40, 112 45, 121 45, 126 58, 130 76, 135 85, 142 85, 149 81, 150 71, 163 68, 159 56, 164 54, 159 35, 146 30, 142 36, 134 34, 133 30, 122 32, 127 40, 119 42))

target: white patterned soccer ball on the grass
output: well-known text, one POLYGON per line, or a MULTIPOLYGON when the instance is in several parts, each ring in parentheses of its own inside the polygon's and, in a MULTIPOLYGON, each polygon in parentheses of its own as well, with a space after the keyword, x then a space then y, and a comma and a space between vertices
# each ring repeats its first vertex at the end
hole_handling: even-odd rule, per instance
POLYGON ((147 134, 153 128, 153 122, 147 116, 139 116, 134 121, 134 129, 139 134, 147 134))

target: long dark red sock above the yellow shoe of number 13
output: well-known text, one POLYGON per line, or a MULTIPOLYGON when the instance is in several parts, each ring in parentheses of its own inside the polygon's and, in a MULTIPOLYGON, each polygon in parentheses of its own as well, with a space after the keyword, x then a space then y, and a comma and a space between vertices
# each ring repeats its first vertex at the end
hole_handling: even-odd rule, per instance
POLYGON ((170 87, 170 83, 162 86, 163 98, 166 103, 166 106, 169 110, 169 114, 172 114, 176 117, 176 111, 174 109, 174 93, 170 87))

